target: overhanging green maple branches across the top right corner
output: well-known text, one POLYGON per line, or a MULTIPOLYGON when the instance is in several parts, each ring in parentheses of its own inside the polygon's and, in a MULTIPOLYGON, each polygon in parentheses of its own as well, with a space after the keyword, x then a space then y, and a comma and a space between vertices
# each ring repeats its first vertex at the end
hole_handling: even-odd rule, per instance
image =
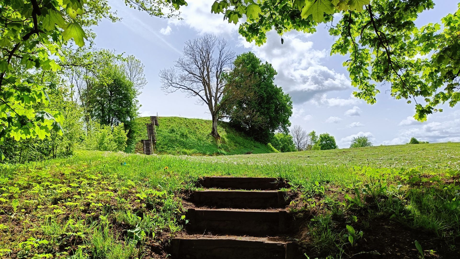
POLYGON ((391 95, 414 102, 414 118, 425 121, 442 112, 437 106, 460 100, 460 9, 416 27, 419 14, 433 7, 433 0, 217 0, 211 10, 230 23, 243 19, 240 34, 258 45, 273 28, 279 35, 314 33, 320 23, 330 24, 336 38, 331 55, 350 57, 344 66, 357 88, 353 94, 374 104, 380 93, 375 82, 390 82, 391 95))

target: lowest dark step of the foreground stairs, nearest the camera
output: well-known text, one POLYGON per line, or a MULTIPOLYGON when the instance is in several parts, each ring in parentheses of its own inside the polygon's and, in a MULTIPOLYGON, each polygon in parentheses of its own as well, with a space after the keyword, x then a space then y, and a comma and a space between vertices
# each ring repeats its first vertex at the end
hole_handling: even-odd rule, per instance
POLYGON ((294 245, 276 238, 173 238, 173 259, 293 259, 294 245))

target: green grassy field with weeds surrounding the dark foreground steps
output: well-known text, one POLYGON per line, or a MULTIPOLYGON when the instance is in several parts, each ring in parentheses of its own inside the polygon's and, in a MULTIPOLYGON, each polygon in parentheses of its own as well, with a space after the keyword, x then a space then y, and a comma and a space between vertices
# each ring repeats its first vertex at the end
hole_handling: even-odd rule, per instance
POLYGON ((167 258, 186 220, 182 197, 212 175, 287 179, 305 259, 460 255, 460 143, 219 157, 78 151, 0 166, 3 258, 167 258))

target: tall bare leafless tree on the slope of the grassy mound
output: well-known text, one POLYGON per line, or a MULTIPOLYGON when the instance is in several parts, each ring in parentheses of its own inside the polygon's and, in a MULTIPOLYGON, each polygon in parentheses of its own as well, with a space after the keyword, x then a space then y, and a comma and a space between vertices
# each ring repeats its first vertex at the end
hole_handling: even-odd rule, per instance
POLYGON ((235 52, 227 41, 204 35, 185 42, 183 57, 159 74, 161 90, 167 94, 180 90, 188 97, 198 96, 198 103, 208 106, 213 119, 211 135, 218 138, 217 122, 225 88, 222 76, 231 71, 234 59, 235 52))

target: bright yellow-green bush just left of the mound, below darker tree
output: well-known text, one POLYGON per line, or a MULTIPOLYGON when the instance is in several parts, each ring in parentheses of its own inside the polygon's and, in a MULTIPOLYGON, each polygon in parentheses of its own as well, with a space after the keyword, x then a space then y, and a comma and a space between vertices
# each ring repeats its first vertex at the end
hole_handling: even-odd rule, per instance
POLYGON ((127 147, 128 132, 123 123, 111 127, 90 120, 86 124, 86 132, 84 145, 88 150, 117 152, 127 147))

